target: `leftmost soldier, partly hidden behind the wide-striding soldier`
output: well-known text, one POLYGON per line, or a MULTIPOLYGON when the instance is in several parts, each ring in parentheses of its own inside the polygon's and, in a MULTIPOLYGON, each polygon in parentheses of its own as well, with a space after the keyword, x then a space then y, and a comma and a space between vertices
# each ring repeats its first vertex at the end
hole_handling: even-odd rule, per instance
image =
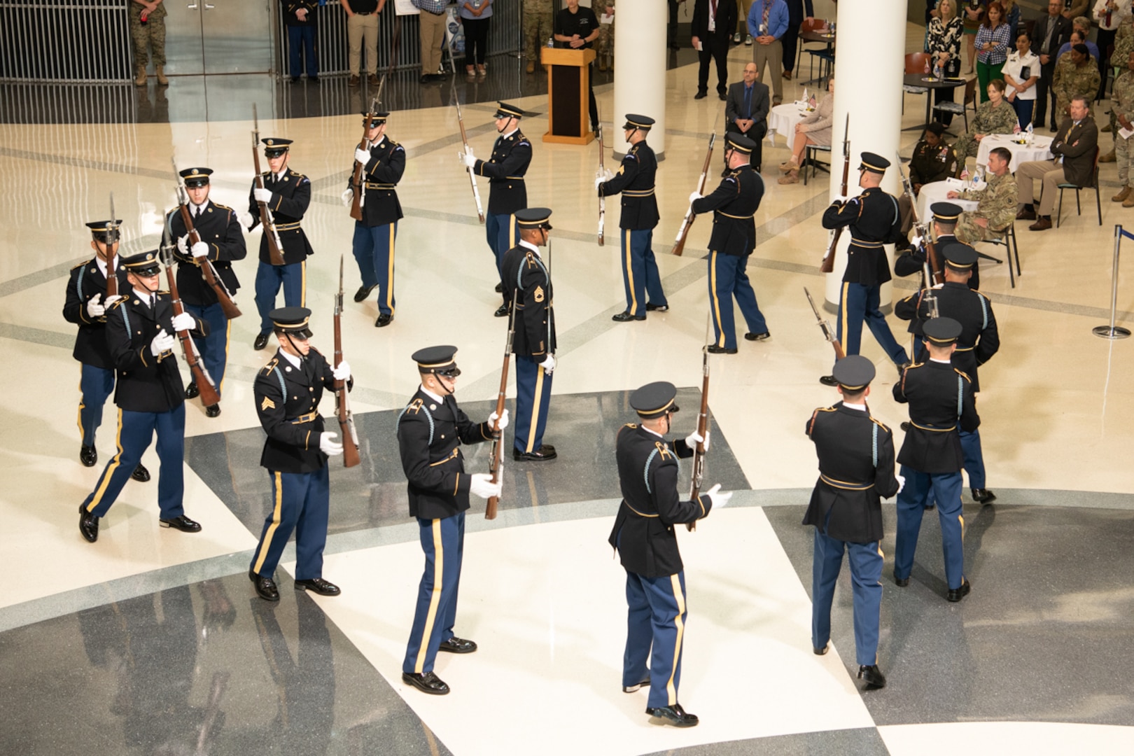
MULTIPOLYGON (((78 428, 83 439, 78 458, 86 467, 94 467, 99 461, 94 434, 102 425, 102 407, 115 390, 115 358, 107 345, 105 313, 108 307, 130 290, 121 258, 116 256, 120 240, 117 229, 120 226, 120 220, 87 223, 93 237, 91 248, 94 249, 94 257, 76 265, 67 275, 64 317, 68 323, 78 325, 71 355, 81 366, 78 388, 83 396, 78 405, 78 428), (115 238, 111 239, 111 236, 115 238), (115 278, 118 280, 119 294, 115 297, 107 296, 108 255, 118 263, 115 266, 115 278)), ((138 462, 133 477, 144 483, 150 479, 150 472, 138 462)))

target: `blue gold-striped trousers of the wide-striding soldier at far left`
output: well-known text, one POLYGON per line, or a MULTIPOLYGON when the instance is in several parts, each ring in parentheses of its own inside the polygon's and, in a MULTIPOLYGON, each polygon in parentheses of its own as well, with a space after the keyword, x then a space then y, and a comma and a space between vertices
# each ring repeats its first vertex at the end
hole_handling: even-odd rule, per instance
POLYGON ((164 413, 118 410, 118 453, 110 458, 94 491, 83 506, 92 515, 103 517, 130 479, 142 455, 158 434, 158 508, 161 519, 171 520, 185 513, 185 404, 164 413))

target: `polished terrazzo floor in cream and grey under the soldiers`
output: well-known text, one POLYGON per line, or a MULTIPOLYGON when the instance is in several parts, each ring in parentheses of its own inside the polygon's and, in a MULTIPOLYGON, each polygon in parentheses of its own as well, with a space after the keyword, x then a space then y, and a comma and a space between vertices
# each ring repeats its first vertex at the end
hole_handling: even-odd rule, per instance
MULTIPOLYGON (((912 43, 920 39, 912 33, 912 43)), ((746 56, 734 49, 734 73, 746 56)), ((505 67, 493 68, 498 74, 523 78, 505 67)), ((87 249, 82 223, 105 215, 109 192, 127 247, 155 246, 160 213, 172 202, 170 154, 183 165, 215 168, 218 202, 246 202, 251 122, 212 111, 194 118, 201 100, 172 102, 171 90, 167 105, 183 114, 150 119, 170 122, 0 126, 8 178, 0 184, 0 342, 16 366, 0 375, 8 482, 0 553, 16 566, 0 595, 0 753, 1134 751, 1134 473, 1125 453, 1134 442, 1134 342, 1091 334, 1109 314, 1114 226, 1134 226, 1134 214, 1108 202, 1112 165, 1102 172, 1101 228, 1090 213, 1039 235, 1021 226, 1017 286, 1002 266, 982 271, 1002 340, 982 369, 980 399, 989 487, 999 499, 965 506, 973 593, 963 602, 942 598, 933 518, 909 587, 883 580, 880 664, 890 685, 868 693, 853 679, 846 575, 833 652, 811 653, 811 533, 799 525, 815 477, 803 425, 812 408, 836 399, 815 380, 830 350, 801 291, 823 288, 814 261, 827 238, 819 214, 828 185, 770 184, 750 272, 772 339, 742 340, 738 355, 712 363, 708 476, 737 493, 733 507, 680 534, 691 606, 682 700, 702 723, 651 725, 644 694, 620 693, 624 578, 606 542, 617 506, 612 438, 633 421, 627 392, 653 380, 682 387, 686 411, 675 431, 692 427, 705 328, 709 224, 694 226, 684 257, 665 253, 720 103, 691 99, 688 61, 666 77, 654 246, 671 309, 644 323, 610 321, 624 304, 617 247, 594 243, 595 148, 539 142, 545 97, 519 97, 535 113, 524 126, 535 137, 531 204, 555 210, 560 365, 548 441, 561 457, 545 466, 506 462, 500 517, 471 512, 457 631, 481 648, 439 660, 454 687, 443 698, 407 690, 398 676, 422 558, 405 516, 392 419, 416 387, 409 354, 437 342, 459 347, 457 396, 474 418, 486 414, 505 335, 492 317, 494 270, 457 168, 447 100, 407 101, 414 109, 391 119, 391 136, 409 155, 399 187, 406 218, 395 323, 375 330, 372 303, 350 305, 345 318, 364 464, 331 475, 324 575, 344 594, 294 592, 289 549, 274 606, 255 598, 245 577, 268 495, 251 390, 266 352, 251 348, 254 315, 232 323, 223 414, 209 419, 197 405, 187 413, 186 508, 204 530, 160 529, 155 484, 130 483, 94 545, 76 533, 74 510, 100 468, 77 460, 78 371, 73 331, 59 315, 66 273, 87 249)), ((596 94, 609 113, 610 86, 596 94)), ((155 96, 152 85, 146 95, 155 96)), ((469 138, 483 154, 492 105, 464 96, 469 138)), ((316 345, 329 345, 340 254, 347 288, 357 286, 352 223, 338 201, 357 118, 336 114, 353 112, 352 103, 340 105, 277 107, 271 117, 261 110, 262 134, 296 139, 293 165, 313 181, 305 228, 316 250, 308 267, 316 345)), ((922 111, 920 97, 907 96, 903 125, 922 111)), ((913 133, 905 138, 908 148, 913 133)), ((772 177, 787 155, 782 138, 764 155, 772 177)), ((255 248, 256 235, 248 243, 255 248)), ((253 260, 237 265, 248 313, 254 271, 253 260)), ((912 286, 897 281, 895 295, 912 286)), ((1127 324, 1132 299, 1120 290, 1127 324)), ((896 374, 871 339, 864 345, 879 365, 872 411, 896 427, 904 418, 889 398, 896 374)), ((108 411, 103 460, 112 439, 108 411)), ((469 467, 479 469, 486 449, 471 451, 469 467)), ((156 470, 152 451, 145 461, 156 470)), ((892 509, 886 517, 888 577, 892 509)))

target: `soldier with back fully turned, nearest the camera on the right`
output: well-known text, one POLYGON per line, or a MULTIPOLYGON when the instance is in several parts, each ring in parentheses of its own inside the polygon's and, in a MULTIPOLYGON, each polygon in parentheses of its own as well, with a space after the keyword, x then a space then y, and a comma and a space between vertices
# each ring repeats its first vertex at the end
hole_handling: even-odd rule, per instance
POLYGON ((819 457, 819 479, 803 517, 804 525, 815 526, 811 646, 819 655, 828 651, 831 602, 846 551, 854 586, 858 678, 868 688, 885 688, 886 676, 878 669, 882 499, 900 492, 904 481, 894 475, 894 435, 866 406, 873 363, 862 355, 849 355, 835 364, 832 374, 843 401, 813 411, 806 427, 819 457))

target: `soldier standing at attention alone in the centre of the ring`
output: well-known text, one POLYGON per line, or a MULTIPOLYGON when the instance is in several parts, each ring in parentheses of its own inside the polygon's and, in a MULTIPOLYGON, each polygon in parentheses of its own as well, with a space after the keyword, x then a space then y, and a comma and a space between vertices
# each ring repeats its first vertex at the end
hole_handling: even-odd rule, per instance
POLYGON ((503 300, 515 299, 516 434, 511 458, 517 461, 555 459, 556 448, 543 443, 551 404, 551 372, 556 367, 556 317, 551 272, 540 247, 551 235, 551 211, 528 207, 516 213, 519 244, 503 257, 503 300))

